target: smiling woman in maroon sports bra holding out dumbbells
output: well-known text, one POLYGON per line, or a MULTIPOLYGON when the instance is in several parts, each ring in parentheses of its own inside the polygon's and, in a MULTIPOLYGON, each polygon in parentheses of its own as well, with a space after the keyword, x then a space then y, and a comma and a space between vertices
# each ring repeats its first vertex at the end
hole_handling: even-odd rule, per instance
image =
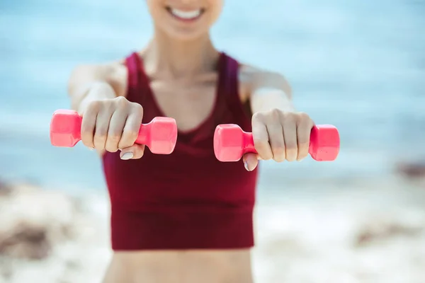
POLYGON ((118 62, 77 67, 72 108, 83 143, 102 156, 114 250, 105 283, 253 282, 250 248, 259 159, 299 161, 313 122, 291 103, 281 74, 216 50, 210 27, 222 0, 147 0, 154 36, 118 62), (135 139, 140 123, 173 117, 169 155, 135 139), (258 154, 217 161, 214 129, 253 132, 258 154))

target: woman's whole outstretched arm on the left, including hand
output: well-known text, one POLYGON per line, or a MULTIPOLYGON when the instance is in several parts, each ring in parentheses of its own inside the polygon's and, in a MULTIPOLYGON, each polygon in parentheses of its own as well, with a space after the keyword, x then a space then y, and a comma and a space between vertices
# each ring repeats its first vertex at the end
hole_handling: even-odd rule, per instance
POLYGON ((99 154, 121 150, 123 159, 141 158, 145 146, 135 144, 143 108, 125 98, 127 68, 123 62, 82 65, 72 71, 68 95, 83 116, 81 141, 99 154))

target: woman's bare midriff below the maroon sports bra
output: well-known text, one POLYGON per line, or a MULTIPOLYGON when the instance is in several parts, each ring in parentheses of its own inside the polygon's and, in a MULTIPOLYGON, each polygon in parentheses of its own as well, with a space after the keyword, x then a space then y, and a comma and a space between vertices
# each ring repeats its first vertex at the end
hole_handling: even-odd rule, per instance
POLYGON ((243 250, 115 252, 103 283, 251 283, 243 250))

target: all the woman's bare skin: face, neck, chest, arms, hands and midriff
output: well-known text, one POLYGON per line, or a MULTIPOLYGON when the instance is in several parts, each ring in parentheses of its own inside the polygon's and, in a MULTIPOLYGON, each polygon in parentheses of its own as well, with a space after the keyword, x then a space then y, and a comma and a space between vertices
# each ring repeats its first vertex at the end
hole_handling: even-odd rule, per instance
MULTIPOLYGON (((200 125, 213 107, 219 52, 209 30, 222 10, 220 0, 147 0, 154 37, 140 51, 154 96, 180 131, 200 125), (174 18, 166 7, 193 11, 203 8, 196 21, 174 18), (172 47, 172 48, 170 48, 172 47), (190 56, 188 56, 190 54, 190 56)), ((128 101, 128 71, 123 59, 76 67, 69 79, 72 108, 83 117, 81 140, 100 154, 120 151, 123 159, 142 158, 145 146, 134 144, 142 122, 143 105, 128 101)), ((297 112, 285 77, 242 64, 239 97, 251 104, 254 146, 245 168, 259 159, 300 161, 308 154, 310 117, 297 112)), ((104 283, 112 282, 253 282, 249 249, 137 250, 113 253, 104 283)))

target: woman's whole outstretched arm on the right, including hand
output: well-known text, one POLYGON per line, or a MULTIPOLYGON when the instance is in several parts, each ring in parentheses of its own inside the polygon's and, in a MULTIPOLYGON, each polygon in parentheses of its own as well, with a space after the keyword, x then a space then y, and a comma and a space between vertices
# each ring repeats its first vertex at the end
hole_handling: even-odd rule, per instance
POLYGON ((295 110, 285 77, 245 65, 239 76, 242 99, 251 103, 252 134, 258 152, 244 156, 246 169, 253 170, 258 159, 282 162, 305 158, 314 123, 307 114, 295 110))

